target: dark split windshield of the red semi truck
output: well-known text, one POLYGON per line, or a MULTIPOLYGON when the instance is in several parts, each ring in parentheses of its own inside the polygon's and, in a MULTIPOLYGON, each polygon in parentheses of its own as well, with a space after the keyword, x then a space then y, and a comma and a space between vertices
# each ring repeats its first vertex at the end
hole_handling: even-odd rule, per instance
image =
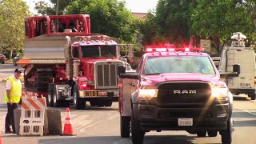
POLYGON ((81 46, 82 58, 115 58, 116 46, 81 46))

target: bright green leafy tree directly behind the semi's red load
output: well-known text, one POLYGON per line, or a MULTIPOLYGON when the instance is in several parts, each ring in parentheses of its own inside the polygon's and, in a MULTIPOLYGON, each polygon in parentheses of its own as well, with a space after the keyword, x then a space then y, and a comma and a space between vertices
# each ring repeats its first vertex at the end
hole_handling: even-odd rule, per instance
POLYGON ((134 42, 138 20, 119 0, 74 0, 66 14, 90 14, 91 32, 107 34, 125 42, 134 42))

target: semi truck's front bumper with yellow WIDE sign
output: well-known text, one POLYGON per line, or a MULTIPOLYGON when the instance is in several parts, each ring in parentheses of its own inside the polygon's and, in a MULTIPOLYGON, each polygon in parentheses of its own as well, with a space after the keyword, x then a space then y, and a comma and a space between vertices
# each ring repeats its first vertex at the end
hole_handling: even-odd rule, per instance
POLYGON ((118 89, 111 90, 79 90, 80 98, 118 98, 118 89))

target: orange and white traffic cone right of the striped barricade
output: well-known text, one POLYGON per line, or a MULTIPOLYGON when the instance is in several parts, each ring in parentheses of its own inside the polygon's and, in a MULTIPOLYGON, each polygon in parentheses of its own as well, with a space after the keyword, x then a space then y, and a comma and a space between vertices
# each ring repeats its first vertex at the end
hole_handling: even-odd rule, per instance
POLYGON ((72 126, 71 117, 70 117, 70 109, 68 107, 66 108, 66 118, 65 118, 63 135, 76 135, 74 134, 74 131, 73 131, 73 126, 72 126))

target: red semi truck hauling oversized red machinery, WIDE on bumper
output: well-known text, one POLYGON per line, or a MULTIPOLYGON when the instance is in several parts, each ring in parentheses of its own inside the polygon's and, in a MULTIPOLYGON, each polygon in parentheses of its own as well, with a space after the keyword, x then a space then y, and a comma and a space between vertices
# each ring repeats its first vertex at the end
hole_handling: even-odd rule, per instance
POLYGON ((23 95, 44 96, 48 106, 73 103, 75 109, 118 100, 117 69, 125 65, 120 49, 132 52, 130 45, 90 34, 88 14, 30 17, 25 26, 24 56, 17 62, 25 69, 23 95))

